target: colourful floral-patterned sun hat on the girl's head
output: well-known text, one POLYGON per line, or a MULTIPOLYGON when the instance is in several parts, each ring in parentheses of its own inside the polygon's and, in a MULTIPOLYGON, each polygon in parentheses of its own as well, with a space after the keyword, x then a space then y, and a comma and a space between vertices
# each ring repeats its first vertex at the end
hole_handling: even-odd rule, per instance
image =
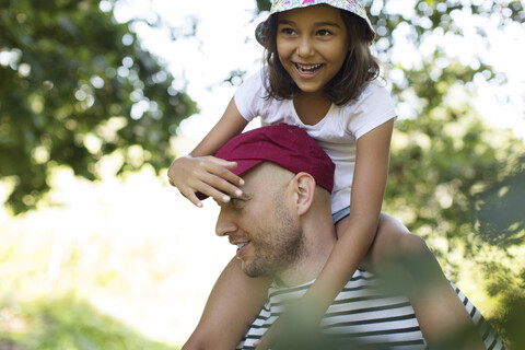
POLYGON ((372 23, 370 23, 370 20, 366 16, 366 11, 364 9, 364 0, 275 0, 271 4, 268 19, 259 23, 259 25, 257 25, 257 28, 255 30, 255 37, 257 38, 257 42, 259 42, 260 45, 265 46, 265 43, 268 40, 270 19, 273 13, 306 8, 310 5, 322 3, 359 15, 366 21, 372 33, 375 33, 374 28, 372 27, 372 23))

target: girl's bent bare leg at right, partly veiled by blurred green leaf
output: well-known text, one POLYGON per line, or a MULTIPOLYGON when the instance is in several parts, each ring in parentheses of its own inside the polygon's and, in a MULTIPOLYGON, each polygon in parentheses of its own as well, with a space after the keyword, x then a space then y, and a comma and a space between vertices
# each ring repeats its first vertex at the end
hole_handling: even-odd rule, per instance
POLYGON ((396 219, 381 214, 362 267, 409 298, 430 349, 486 349, 434 255, 396 219))

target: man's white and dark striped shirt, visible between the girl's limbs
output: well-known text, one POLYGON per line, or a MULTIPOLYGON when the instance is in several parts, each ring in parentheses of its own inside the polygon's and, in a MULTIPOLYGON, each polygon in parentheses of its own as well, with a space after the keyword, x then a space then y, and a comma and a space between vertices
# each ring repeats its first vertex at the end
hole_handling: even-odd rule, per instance
MULTIPOLYGON (((271 285, 267 303, 237 349, 255 349, 254 343, 282 314, 287 302, 301 298, 313 282, 293 288, 271 285)), ((372 273, 357 270, 328 307, 320 323, 323 335, 345 345, 368 345, 373 349, 425 349, 425 341, 408 299, 385 293, 377 287, 377 282, 372 273)), ((452 285, 469 312, 487 349, 505 349, 481 313, 459 289, 452 285)))

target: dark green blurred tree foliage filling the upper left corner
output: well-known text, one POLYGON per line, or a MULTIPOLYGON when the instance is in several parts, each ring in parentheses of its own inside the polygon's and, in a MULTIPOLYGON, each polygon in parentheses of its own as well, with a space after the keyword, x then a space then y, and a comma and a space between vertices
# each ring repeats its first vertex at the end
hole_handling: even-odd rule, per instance
POLYGON ((88 179, 117 153, 118 172, 170 165, 170 139, 196 104, 100 0, 2 1, 0 176, 14 213, 35 207, 48 174, 88 179))

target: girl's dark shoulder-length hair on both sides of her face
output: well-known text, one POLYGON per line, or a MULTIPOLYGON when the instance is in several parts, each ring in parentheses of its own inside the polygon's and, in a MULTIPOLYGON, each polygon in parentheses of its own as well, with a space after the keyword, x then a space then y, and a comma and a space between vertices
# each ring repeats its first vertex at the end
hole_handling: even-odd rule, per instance
MULTIPOLYGON (((324 86, 323 95, 336 105, 343 105, 359 96, 366 82, 380 75, 380 65, 370 51, 374 33, 360 16, 340 10, 347 27, 349 48, 337 74, 324 86)), ((291 100, 300 89, 282 67, 277 54, 277 16, 272 15, 266 45, 266 66, 269 86, 267 98, 291 100)))

